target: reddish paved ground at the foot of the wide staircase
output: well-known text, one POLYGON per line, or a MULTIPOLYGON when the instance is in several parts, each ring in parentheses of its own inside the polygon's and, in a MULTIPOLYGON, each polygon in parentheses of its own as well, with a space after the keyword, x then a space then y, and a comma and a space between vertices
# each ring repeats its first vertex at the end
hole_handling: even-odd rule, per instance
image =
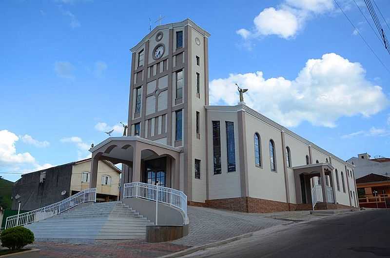
POLYGON ((40 251, 15 255, 12 258, 155 258, 175 253, 188 246, 147 243, 142 240, 96 240, 87 244, 35 242, 27 248, 38 248, 40 251))

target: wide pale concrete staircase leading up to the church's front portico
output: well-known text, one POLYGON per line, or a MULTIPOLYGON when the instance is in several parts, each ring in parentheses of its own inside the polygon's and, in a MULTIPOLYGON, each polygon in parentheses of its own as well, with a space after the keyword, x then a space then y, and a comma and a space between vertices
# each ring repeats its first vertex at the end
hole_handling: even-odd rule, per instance
POLYGON ((39 222, 25 225, 36 240, 145 238, 145 226, 153 225, 120 201, 87 203, 39 222))

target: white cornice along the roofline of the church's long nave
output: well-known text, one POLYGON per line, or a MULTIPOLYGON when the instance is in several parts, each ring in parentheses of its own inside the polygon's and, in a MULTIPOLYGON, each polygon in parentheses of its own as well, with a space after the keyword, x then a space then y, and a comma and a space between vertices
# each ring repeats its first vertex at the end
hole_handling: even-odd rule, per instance
POLYGON ((210 111, 213 111, 213 112, 238 112, 238 111, 244 111, 248 115, 251 115, 252 117, 254 117, 255 119, 259 119, 259 120, 261 120, 261 121, 263 121, 263 122, 273 126, 275 129, 277 129, 279 131, 284 131, 286 134, 288 134, 292 138, 297 139, 297 140, 299 140, 299 141, 301 141, 301 142, 303 142, 303 143, 305 143, 307 145, 310 145, 312 148, 316 149, 319 152, 322 152, 323 154, 331 157, 332 159, 335 159, 335 160, 339 161, 340 163, 342 163, 344 165, 347 165, 347 166, 349 166, 351 168, 354 168, 354 166, 352 164, 346 162, 343 159, 340 159, 340 158, 334 156, 330 152, 320 148, 319 146, 315 145, 311 141, 309 141, 309 140, 307 140, 307 139, 305 139, 303 137, 300 137, 299 135, 295 134, 291 130, 289 130, 286 127, 276 123, 275 121, 265 117, 264 115, 260 114, 259 112, 255 111, 254 109, 248 107, 247 105, 243 104, 242 102, 239 102, 235 106, 205 106, 205 108, 207 110, 210 110, 210 111))

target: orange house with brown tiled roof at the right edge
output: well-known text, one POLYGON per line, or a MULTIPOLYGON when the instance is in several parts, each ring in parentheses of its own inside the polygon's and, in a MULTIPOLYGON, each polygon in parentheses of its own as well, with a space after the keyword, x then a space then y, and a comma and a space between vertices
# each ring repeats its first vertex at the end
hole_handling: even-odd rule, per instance
POLYGON ((356 179, 360 207, 390 208, 390 178, 369 174, 356 179))

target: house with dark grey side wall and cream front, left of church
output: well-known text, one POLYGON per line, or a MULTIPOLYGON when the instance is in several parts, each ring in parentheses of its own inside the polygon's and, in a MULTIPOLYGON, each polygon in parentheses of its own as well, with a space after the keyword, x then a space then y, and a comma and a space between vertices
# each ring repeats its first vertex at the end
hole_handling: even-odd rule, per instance
MULTIPOLYGON (((79 160, 28 173, 15 182, 12 209, 35 210, 89 188, 91 159, 79 160)), ((120 170, 109 161, 100 161, 97 201, 117 200, 120 170)))

